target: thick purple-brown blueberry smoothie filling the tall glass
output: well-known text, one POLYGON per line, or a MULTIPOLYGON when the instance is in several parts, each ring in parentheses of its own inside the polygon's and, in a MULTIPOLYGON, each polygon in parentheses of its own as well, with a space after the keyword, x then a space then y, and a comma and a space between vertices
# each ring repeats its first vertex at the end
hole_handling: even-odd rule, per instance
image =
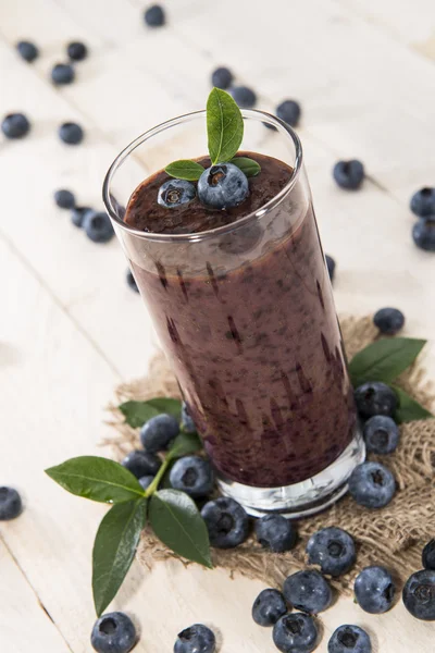
MULTIPOLYGON (((135 190, 125 222, 161 234, 236 224, 291 176, 277 159, 245 156, 262 171, 249 181, 250 196, 239 207, 208 211, 195 199, 164 209, 157 204, 169 178, 162 171, 135 190)), ((295 202, 298 194, 290 192, 264 223, 259 218, 201 246, 173 243, 171 256, 162 243, 161 257, 130 261, 213 464, 227 479, 259 488, 289 485, 324 470, 356 429, 314 214, 307 201, 295 222, 295 202)))

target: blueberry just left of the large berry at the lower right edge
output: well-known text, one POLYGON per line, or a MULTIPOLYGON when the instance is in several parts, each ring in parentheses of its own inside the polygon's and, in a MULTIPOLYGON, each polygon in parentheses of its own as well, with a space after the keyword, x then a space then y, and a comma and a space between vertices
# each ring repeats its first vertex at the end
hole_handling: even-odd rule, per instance
POLYGON ((363 611, 380 615, 387 612, 396 593, 390 572, 385 567, 364 567, 357 576, 353 584, 358 605, 363 611))

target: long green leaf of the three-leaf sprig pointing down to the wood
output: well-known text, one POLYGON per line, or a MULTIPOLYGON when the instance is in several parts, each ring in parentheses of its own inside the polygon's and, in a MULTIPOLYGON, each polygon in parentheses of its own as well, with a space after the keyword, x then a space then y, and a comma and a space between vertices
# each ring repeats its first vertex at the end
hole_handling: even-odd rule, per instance
POLYGON ((147 520, 147 501, 113 506, 102 519, 92 551, 92 591, 97 615, 108 607, 135 557, 147 520))

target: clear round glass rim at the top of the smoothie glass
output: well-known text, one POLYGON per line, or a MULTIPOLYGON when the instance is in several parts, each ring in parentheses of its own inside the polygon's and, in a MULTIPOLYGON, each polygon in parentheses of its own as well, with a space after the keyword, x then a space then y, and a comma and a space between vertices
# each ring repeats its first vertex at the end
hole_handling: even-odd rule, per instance
MULTIPOLYGON (((116 209, 113 206, 110 188, 111 188, 112 180, 113 180, 117 169, 124 163, 125 159, 127 159, 127 157, 129 157, 137 147, 139 147, 146 140, 149 140, 153 136, 157 136, 161 132, 164 132, 165 130, 175 127, 178 124, 189 122, 189 121, 195 120, 200 116, 206 118, 207 111, 203 109, 200 111, 192 111, 190 113, 185 113, 183 115, 178 115, 177 118, 173 118, 163 123, 160 123, 159 125, 152 127, 151 130, 144 132, 144 134, 140 134, 140 136, 138 136, 134 140, 132 140, 132 143, 129 145, 127 145, 117 155, 117 157, 114 159, 114 161, 110 165, 110 168, 105 174, 103 185, 102 185, 102 199, 103 199, 105 209, 107 209, 111 220, 113 220, 114 223, 116 225, 119 225, 121 229, 123 229, 125 232, 127 232, 132 235, 138 236, 142 239, 154 241, 154 242, 158 241, 158 242, 178 242, 179 243, 183 241, 190 241, 190 242, 191 241, 204 241, 210 237, 215 237, 217 235, 229 233, 234 229, 238 229, 239 226, 249 224, 250 222, 253 222, 254 220, 262 218, 271 209, 276 207, 294 188, 296 181, 299 176, 299 173, 302 169, 302 145, 301 145, 299 136, 296 134, 296 132, 279 118, 272 115, 271 113, 268 113, 266 111, 260 111, 258 109, 240 109, 240 111, 241 111, 241 115, 244 119, 248 119, 248 120, 253 119, 253 120, 257 120, 257 121, 260 121, 263 123, 268 123, 269 125, 272 125, 273 127, 275 127, 275 130, 277 132, 279 132, 281 134, 284 134, 285 136, 289 136, 294 143, 296 155, 295 155, 295 160, 294 160, 293 172, 291 172, 290 178, 288 180, 286 185, 279 190, 279 193, 277 193, 274 197, 272 197, 272 199, 266 201, 263 206, 261 206, 256 211, 251 211, 250 213, 247 213, 247 215, 243 215, 241 218, 235 220, 234 222, 231 222, 229 224, 225 224, 223 226, 217 226, 215 229, 210 229, 210 230, 199 232, 199 233, 160 234, 160 233, 152 233, 152 232, 144 232, 144 231, 140 231, 140 230, 137 230, 137 229, 130 226, 129 224, 124 222, 124 220, 121 220, 119 218, 119 215, 116 213, 116 209)), ((132 194, 134 190, 135 190, 135 188, 132 189, 132 194)))

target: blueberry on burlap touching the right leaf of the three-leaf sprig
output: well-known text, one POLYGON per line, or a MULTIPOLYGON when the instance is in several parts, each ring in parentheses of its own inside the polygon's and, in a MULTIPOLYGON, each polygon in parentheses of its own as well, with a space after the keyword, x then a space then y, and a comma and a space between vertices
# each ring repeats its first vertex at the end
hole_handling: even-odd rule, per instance
POLYGON ((233 549, 249 535, 249 517, 234 498, 220 496, 209 501, 201 516, 209 531, 210 544, 216 549, 233 549))

